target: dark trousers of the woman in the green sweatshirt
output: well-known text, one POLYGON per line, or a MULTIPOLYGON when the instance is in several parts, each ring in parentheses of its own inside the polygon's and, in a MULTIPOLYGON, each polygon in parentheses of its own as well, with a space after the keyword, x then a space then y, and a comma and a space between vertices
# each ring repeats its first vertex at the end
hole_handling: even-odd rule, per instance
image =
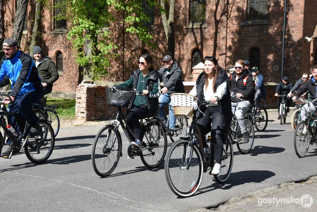
POLYGON ((140 119, 147 118, 149 114, 149 109, 147 105, 141 105, 139 107, 133 106, 126 116, 127 124, 133 129, 135 139, 141 139, 141 123, 140 119))

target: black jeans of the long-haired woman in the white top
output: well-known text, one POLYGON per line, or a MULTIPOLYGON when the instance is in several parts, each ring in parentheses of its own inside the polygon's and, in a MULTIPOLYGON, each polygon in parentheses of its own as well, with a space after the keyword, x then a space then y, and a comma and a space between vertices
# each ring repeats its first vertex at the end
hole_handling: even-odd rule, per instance
POLYGON ((199 127, 200 133, 202 134, 203 146, 207 147, 206 138, 204 135, 211 131, 211 144, 215 148, 215 162, 221 164, 224 126, 221 113, 219 111, 219 106, 204 107, 202 112, 205 115, 202 113, 199 115, 197 118, 197 125, 199 127))

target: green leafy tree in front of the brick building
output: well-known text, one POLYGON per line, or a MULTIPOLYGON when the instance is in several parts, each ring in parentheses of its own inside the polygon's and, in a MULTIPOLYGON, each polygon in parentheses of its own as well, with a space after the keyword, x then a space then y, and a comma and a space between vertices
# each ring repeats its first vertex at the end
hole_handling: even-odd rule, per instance
MULTIPOLYGON (((155 1, 148 3, 154 5, 155 1)), ((118 57, 113 53, 118 48, 114 41, 118 33, 115 24, 123 23, 126 32, 138 34, 153 46, 152 35, 142 25, 142 21, 149 20, 143 12, 142 0, 72 0, 67 4, 66 17, 72 23, 68 39, 76 50, 76 63, 84 67, 84 80, 106 76, 111 59, 118 57)))

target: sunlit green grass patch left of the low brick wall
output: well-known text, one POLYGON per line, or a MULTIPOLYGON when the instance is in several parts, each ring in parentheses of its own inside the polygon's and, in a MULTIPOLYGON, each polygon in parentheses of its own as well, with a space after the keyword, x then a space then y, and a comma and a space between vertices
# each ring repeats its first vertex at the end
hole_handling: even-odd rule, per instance
POLYGON ((56 112, 61 119, 75 119, 75 99, 47 98, 47 105, 57 105, 56 112))

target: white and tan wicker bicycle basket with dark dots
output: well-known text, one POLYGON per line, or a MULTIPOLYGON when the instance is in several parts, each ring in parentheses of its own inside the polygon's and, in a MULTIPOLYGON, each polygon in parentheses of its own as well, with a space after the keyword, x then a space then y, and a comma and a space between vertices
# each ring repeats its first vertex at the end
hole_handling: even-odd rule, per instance
POLYGON ((171 101, 175 116, 192 116, 197 97, 187 93, 172 93, 171 101))

